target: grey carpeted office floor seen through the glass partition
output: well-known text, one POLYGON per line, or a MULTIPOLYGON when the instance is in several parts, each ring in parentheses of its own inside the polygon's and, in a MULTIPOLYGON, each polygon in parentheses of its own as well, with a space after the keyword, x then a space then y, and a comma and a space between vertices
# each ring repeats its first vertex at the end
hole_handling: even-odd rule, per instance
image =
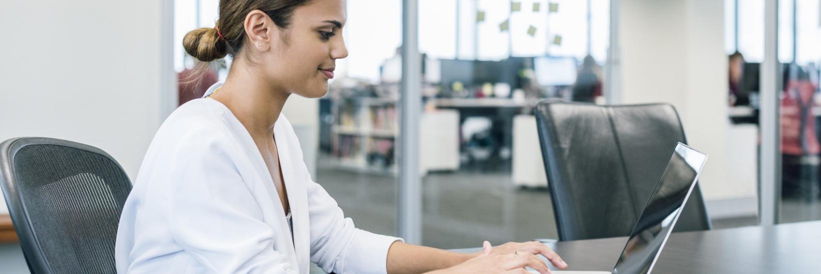
MULTIPOLYGON (((555 238, 548 192, 519 190, 505 173, 459 171, 423 180, 423 242, 457 249, 489 240, 555 238)), ((333 168, 318 171, 317 180, 337 199, 356 226, 375 233, 396 231, 396 179, 361 175, 333 168)))

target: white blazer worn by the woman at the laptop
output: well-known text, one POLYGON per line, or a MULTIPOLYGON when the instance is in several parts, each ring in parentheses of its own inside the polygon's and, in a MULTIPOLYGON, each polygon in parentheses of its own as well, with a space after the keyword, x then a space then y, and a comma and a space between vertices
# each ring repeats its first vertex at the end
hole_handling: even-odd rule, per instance
MULTIPOLYGON (((213 92, 214 84, 206 94, 213 92)), ((273 137, 293 240, 259 149, 225 105, 200 98, 160 126, 120 217, 119 273, 385 273, 401 240, 354 227, 311 180, 285 116, 273 137)))

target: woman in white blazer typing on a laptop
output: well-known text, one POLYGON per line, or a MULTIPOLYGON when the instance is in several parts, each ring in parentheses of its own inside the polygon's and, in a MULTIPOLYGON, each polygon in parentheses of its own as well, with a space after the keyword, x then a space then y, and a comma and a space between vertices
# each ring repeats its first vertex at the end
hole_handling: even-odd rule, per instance
POLYGON ((452 253, 360 231, 311 180, 291 125, 291 94, 323 96, 342 40, 344 0, 221 0, 213 29, 192 30, 202 62, 232 54, 224 84, 179 107, 154 136, 117 232, 121 273, 508 273, 539 243, 452 253))

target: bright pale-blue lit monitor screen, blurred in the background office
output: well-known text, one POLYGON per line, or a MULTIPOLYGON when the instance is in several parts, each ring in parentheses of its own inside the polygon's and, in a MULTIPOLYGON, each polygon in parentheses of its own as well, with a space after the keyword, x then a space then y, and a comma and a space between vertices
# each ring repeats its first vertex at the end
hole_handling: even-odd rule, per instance
POLYGON ((534 58, 536 81, 543 86, 571 85, 576 83, 576 72, 578 69, 576 58, 534 58))

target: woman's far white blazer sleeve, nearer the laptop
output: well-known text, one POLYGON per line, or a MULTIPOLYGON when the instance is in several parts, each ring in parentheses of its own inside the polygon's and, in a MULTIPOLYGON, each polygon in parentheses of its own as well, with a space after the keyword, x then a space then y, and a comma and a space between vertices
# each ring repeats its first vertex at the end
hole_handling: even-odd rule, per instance
POLYGON ((291 125, 291 139, 296 142, 300 176, 306 182, 310 218, 310 259, 324 272, 387 273, 388 249, 400 238, 378 235, 355 228, 351 218, 346 218, 337 201, 325 189, 311 179, 299 140, 291 125))

